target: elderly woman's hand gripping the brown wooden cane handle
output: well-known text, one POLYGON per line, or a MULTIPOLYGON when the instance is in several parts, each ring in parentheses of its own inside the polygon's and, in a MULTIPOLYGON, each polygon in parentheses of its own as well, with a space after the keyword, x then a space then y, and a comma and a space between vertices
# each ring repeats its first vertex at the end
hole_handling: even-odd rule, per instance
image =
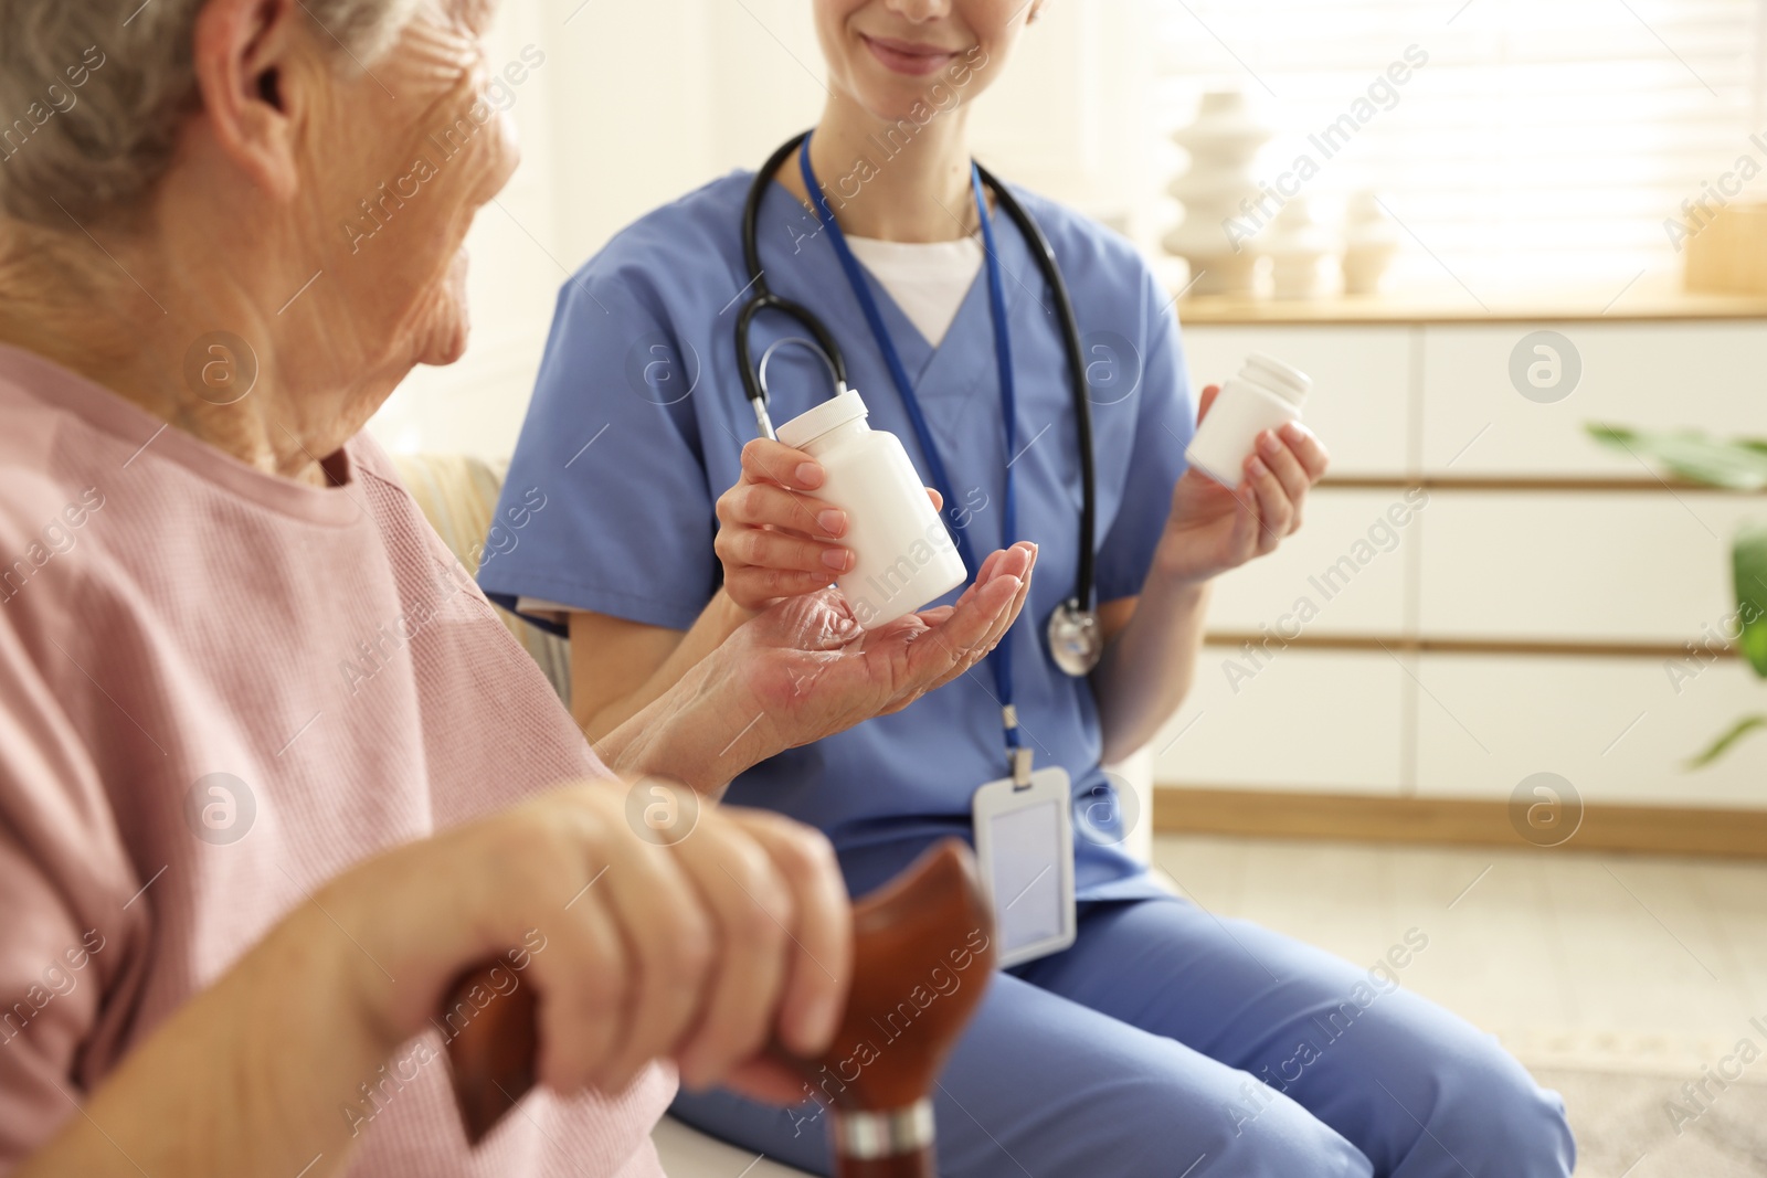
POLYGON ((345 954, 362 1016, 403 1042, 463 966, 521 947, 527 964, 507 975, 537 987, 553 1090, 613 1093, 668 1058, 691 1086, 795 1099, 758 1053, 774 1033, 820 1053, 846 1001, 852 913, 834 851, 739 807, 703 807, 657 846, 626 798, 618 781, 558 789, 327 885, 318 904, 362 950, 345 954))

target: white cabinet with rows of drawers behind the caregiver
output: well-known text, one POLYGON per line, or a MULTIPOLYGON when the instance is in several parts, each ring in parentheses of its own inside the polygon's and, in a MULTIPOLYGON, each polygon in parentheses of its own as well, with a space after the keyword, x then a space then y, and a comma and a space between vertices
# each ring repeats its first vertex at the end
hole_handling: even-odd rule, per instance
POLYGON ((1216 586, 1157 781, 1507 798, 1550 770, 1585 798, 1767 809, 1767 738, 1686 766, 1767 712, 1767 682, 1682 661, 1730 618, 1730 540, 1767 496, 1665 484, 1585 431, 1767 436, 1767 323, 1200 325, 1184 344, 1198 385, 1248 351, 1315 376, 1334 461, 1302 533, 1216 586), (1511 376, 1541 330, 1580 369, 1558 401, 1511 376))

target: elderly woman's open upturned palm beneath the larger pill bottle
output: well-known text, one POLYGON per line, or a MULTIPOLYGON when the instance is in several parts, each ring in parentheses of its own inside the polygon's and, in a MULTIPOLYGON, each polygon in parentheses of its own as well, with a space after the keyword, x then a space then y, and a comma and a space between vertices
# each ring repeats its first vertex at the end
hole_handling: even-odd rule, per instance
MULTIPOLYGON (((952 606, 861 629, 839 590, 781 600, 721 648, 777 749, 899 712, 993 650, 1025 606, 1037 546, 991 553, 952 606)), ((758 724, 760 726, 760 724, 758 724)))

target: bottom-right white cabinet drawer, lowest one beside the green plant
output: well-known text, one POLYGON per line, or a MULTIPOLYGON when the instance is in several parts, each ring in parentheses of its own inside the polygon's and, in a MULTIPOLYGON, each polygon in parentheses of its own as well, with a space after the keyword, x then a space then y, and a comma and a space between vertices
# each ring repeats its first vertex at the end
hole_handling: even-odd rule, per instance
POLYGON ((1417 791, 1507 798, 1553 772, 1585 800, 1767 805, 1767 736, 1703 770, 1686 761, 1732 721, 1767 710, 1767 683, 1740 661, 1703 669, 1657 659, 1422 655, 1417 791))

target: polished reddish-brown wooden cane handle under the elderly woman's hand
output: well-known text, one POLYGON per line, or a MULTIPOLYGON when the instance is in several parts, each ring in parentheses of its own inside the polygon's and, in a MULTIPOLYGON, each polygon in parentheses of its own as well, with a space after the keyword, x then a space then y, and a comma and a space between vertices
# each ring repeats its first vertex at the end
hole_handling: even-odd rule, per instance
MULTIPOLYGON (((509 966, 466 970, 442 1017, 474 1144, 534 1086, 534 989, 500 991, 498 970, 509 966)), ((815 1060, 767 1049, 806 1097, 834 1109, 841 1178, 931 1178, 931 1111, 922 1120, 921 1106, 993 970, 993 913, 958 839, 853 906, 853 987, 832 1044, 815 1060)))

